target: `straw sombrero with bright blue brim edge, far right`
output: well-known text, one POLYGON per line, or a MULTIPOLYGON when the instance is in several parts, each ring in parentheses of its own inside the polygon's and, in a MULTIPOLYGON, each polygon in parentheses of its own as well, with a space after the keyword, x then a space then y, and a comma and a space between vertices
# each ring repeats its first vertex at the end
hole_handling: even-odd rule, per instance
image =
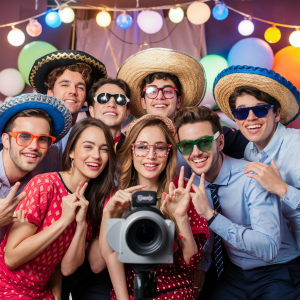
POLYGON ((282 124, 287 125, 299 116, 300 94, 290 81, 272 70, 231 66, 218 74, 213 86, 218 106, 231 119, 234 116, 229 106, 229 97, 239 86, 252 86, 274 97, 281 105, 282 124))

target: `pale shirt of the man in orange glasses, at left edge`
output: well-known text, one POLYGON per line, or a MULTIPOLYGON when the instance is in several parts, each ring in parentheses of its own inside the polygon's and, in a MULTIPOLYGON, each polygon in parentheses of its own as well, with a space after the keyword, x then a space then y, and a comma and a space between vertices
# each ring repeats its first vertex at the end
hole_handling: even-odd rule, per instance
MULTIPOLYGON (((10 190, 13 188, 13 185, 10 186, 9 180, 6 176, 2 156, 3 156, 3 150, 0 151, 0 201, 2 199, 5 199, 7 197, 7 195, 9 194, 10 190)), ((33 177, 32 173, 28 173, 21 180, 18 180, 21 184, 18 188, 16 196, 18 196, 21 193, 21 191, 24 189, 24 187, 31 180, 32 177, 33 177)), ((0 242, 2 241, 2 239, 4 237, 8 226, 9 225, 0 227, 0 242)))

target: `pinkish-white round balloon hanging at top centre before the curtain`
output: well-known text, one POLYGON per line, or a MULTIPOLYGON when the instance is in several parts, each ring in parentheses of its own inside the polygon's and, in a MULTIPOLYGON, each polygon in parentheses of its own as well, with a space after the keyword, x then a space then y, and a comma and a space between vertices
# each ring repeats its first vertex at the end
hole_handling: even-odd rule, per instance
POLYGON ((138 15, 137 23, 141 30, 148 34, 153 34, 162 28, 163 20, 157 11, 144 10, 138 15))

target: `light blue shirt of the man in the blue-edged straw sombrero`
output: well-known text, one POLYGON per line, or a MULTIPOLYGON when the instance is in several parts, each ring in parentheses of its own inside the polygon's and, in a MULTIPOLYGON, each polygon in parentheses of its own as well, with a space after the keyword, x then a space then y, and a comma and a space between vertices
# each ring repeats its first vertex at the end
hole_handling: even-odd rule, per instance
POLYGON ((248 161, 259 161, 271 165, 274 159, 282 180, 289 187, 281 200, 282 213, 300 247, 300 130, 286 128, 278 123, 268 145, 259 152, 250 142, 244 153, 248 161))

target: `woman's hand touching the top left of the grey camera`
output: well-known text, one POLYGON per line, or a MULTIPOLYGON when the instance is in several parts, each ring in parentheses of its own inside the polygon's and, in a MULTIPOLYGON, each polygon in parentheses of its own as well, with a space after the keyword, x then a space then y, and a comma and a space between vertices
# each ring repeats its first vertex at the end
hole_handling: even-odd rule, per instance
POLYGON ((147 185, 136 185, 125 190, 118 190, 107 202, 103 213, 113 214, 122 210, 131 202, 132 194, 134 192, 140 191, 146 186, 147 185))

